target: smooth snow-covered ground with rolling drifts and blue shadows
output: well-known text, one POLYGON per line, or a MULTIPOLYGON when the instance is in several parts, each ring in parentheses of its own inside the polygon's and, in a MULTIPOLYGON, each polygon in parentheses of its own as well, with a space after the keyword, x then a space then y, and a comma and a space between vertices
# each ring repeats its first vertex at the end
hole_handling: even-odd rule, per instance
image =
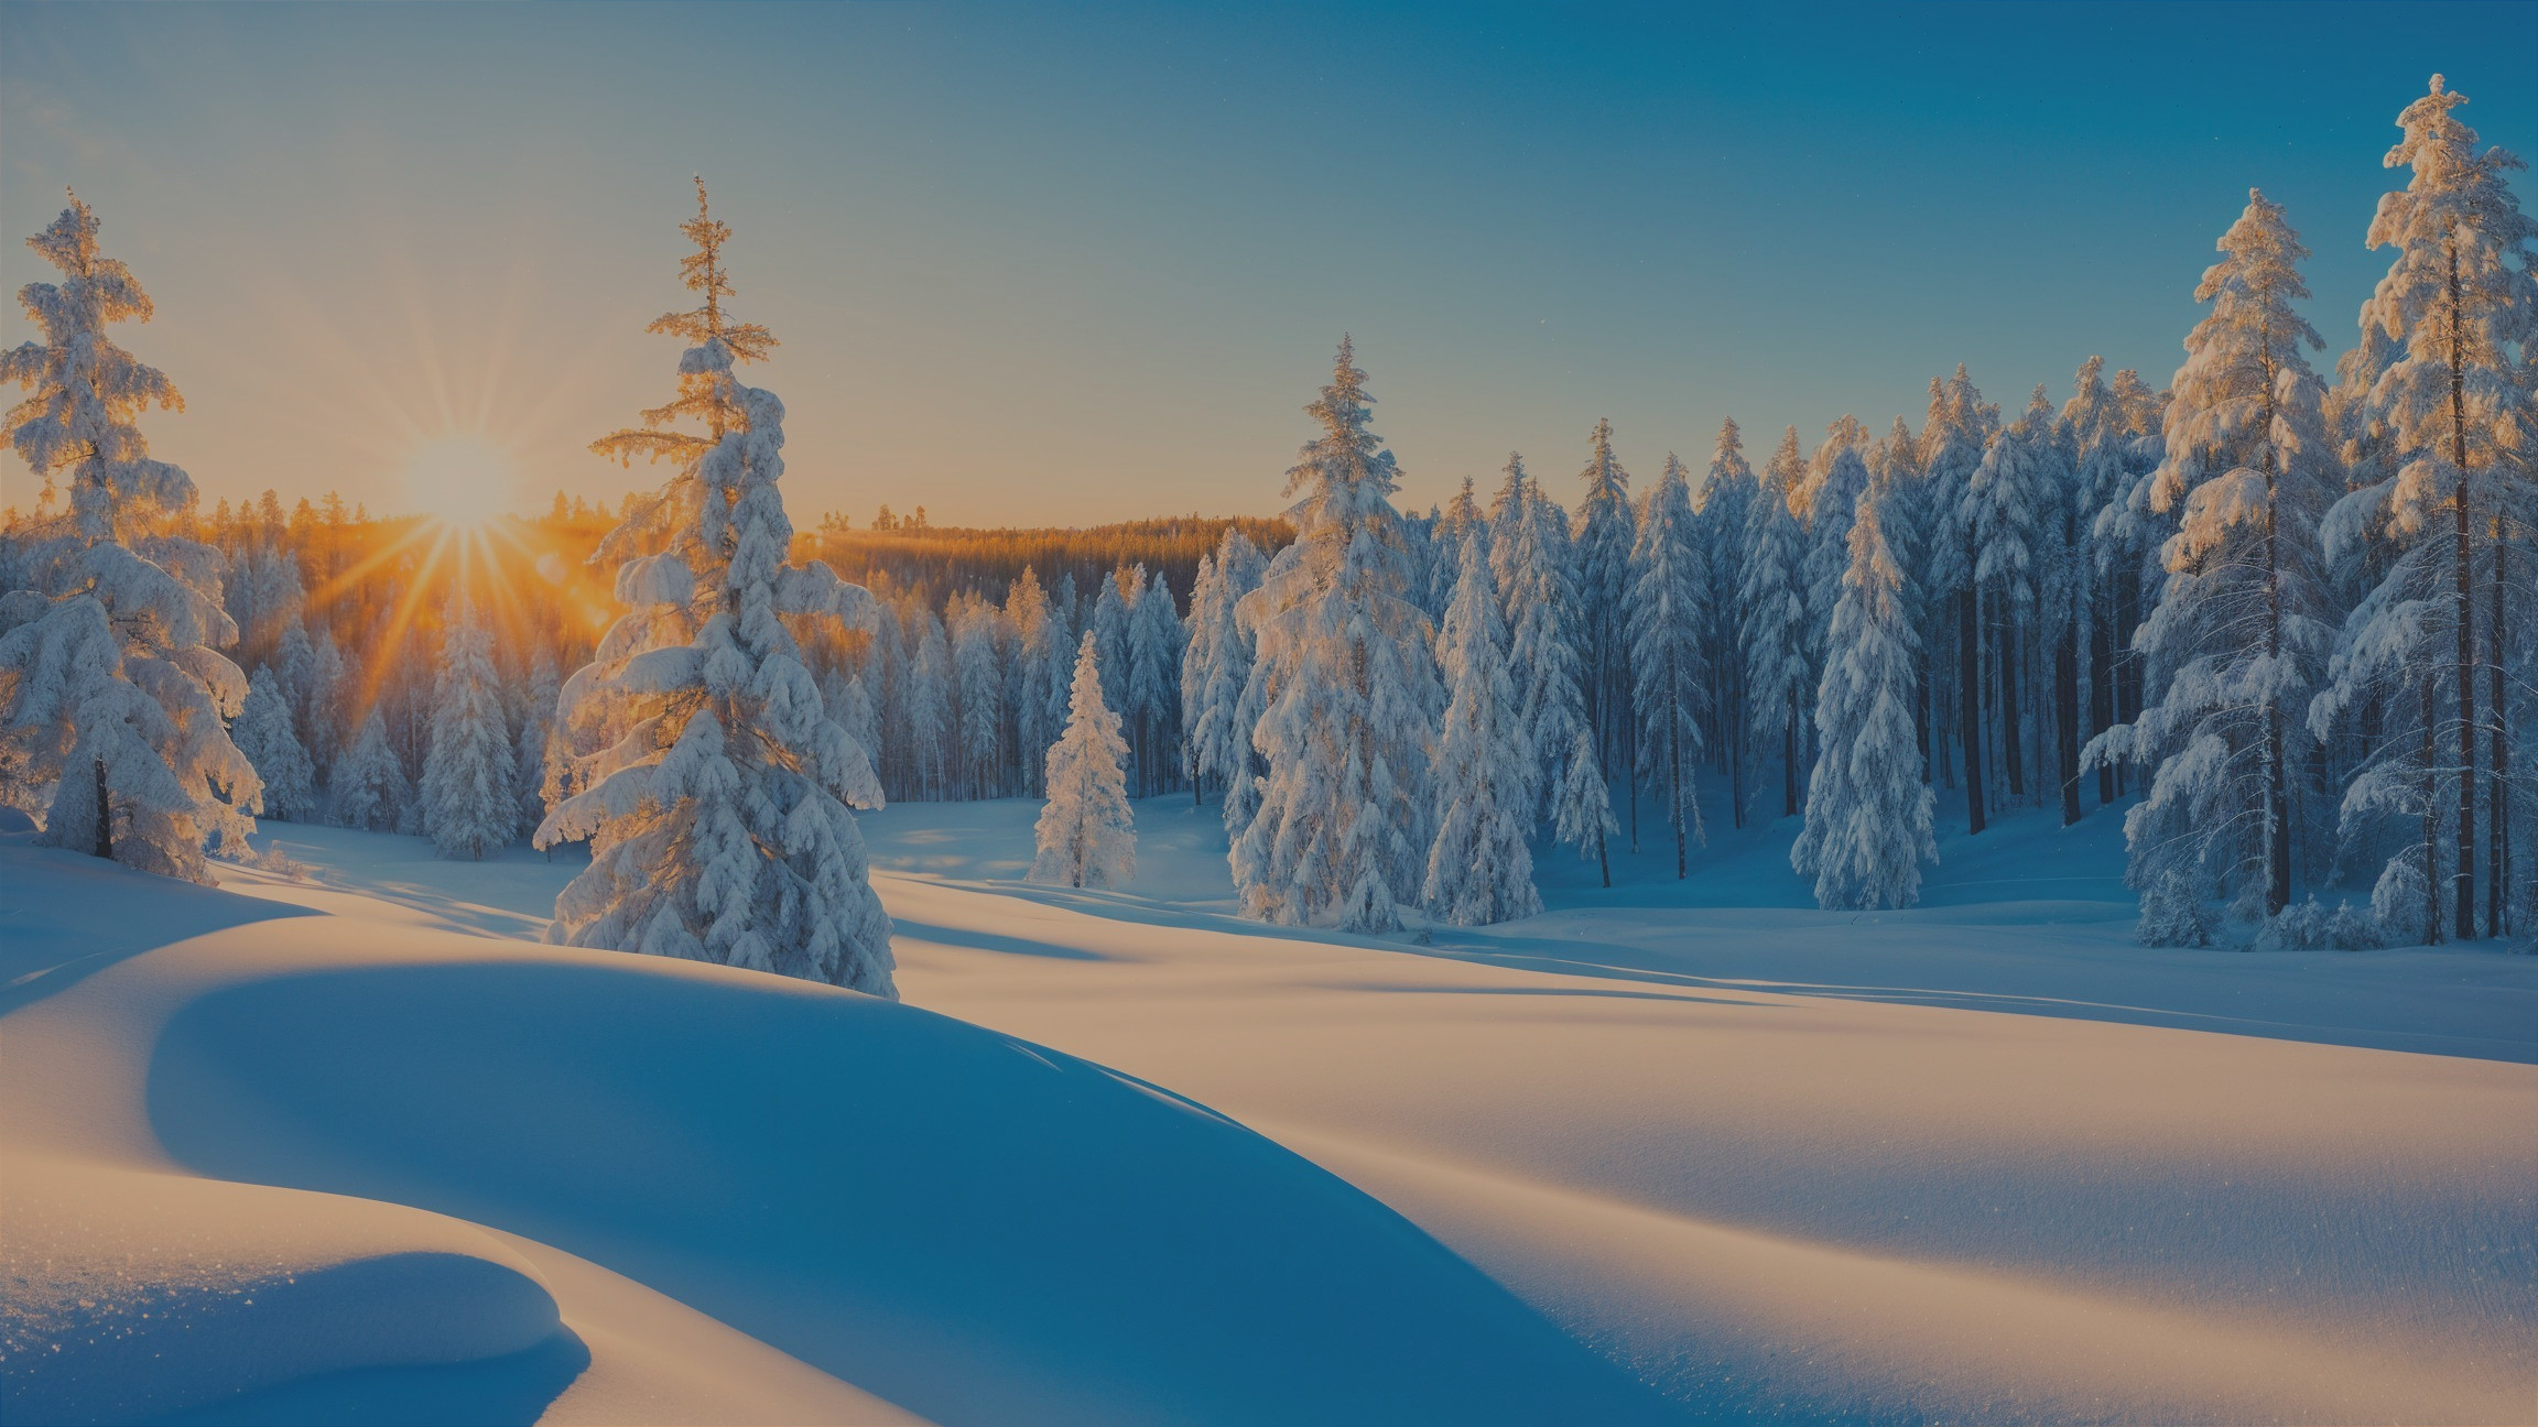
POLYGON ((1551 912, 863 818, 906 1006, 523 945, 574 863, 0 840, 0 1417, 2525 1422, 2538 960, 2152 952, 2114 820, 1909 914, 1713 828, 1551 912), (244 1397, 241 1397, 244 1394, 244 1397))

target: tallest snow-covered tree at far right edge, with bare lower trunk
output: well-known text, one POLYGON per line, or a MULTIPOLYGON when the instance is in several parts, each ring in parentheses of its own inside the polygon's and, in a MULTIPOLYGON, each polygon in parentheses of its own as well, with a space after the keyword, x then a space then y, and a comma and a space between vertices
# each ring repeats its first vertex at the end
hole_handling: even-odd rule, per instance
MULTIPOLYGON (((2416 564, 2449 566, 2439 632, 2452 640, 2449 675, 2436 716, 2454 734, 2449 754, 2457 838, 2449 851, 2452 934, 2477 934, 2477 792, 2490 802, 2487 922, 2505 917, 2502 881, 2510 848, 2510 630, 2528 630, 2530 579, 2513 576, 2513 538, 2525 538, 2530 505, 2533 348, 2538 348, 2538 223, 2520 213, 2508 175, 2525 168, 2513 152, 2477 152, 2477 132, 2454 114, 2467 96, 2431 76, 2431 91, 2398 114, 2403 140, 2388 168, 2409 168, 2403 190, 2381 196, 2370 246, 2396 249, 2388 274, 2363 307, 2396 350, 2370 383, 2370 419, 2383 429, 2396 475, 2348 495, 2332 526, 2376 523, 2406 548, 2383 592, 2363 602, 2381 627, 2348 630, 2358 655, 2391 650, 2416 614, 2436 599, 2416 564), (2482 566, 2482 569, 2480 569, 2482 566), (2482 579, 2480 579, 2482 574, 2482 579), (2482 587, 2482 599, 2480 599, 2482 587), (2485 604, 2485 609, 2477 609, 2485 604), (2518 614, 2518 617, 2515 617, 2518 614), (2480 622, 2482 640, 2480 640, 2480 622), (2480 714, 2480 665, 2485 708, 2480 714), (2485 734, 2485 739, 2480 739, 2485 734), (2485 744, 2480 749, 2480 741, 2485 744)), ((2360 665, 2370 665, 2360 658, 2360 665)), ((2424 663, 2421 655, 2411 663, 2424 663)), ((2426 810, 2426 815, 2431 815, 2426 810)))

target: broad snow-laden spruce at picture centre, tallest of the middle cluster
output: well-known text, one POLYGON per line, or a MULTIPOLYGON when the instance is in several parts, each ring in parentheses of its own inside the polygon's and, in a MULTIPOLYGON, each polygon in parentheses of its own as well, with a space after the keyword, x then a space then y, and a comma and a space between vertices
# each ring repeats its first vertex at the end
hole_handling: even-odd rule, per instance
POLYGON ((1368 401, 1343 338, 1307 406, 1322 437, 1287 472, 1297 538, 1239 607, 1266 772, 1231 863, 1246 917, 1383 932, 1424 871, 1437 663, 1368 401))

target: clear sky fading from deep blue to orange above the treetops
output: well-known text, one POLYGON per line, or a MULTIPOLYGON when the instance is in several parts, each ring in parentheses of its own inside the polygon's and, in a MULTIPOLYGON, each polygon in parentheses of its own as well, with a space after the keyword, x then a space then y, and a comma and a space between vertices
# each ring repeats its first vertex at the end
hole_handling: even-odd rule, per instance
POLYGON ((2249 185, 2340 345, 2398 109, 2538 155, 2533 56, 2538 5, 0 5, 0 279, 76 185, 206 500, 393 510, 482 432, 536 508, 637 480, 581 447, 670 391, 700 170, 799 526, 1277 510, 1340 330, 1404 503, 1510 447, 1568 498, 1596 416, 1645 480, 1957 361, 2165 383, 2249 185))

